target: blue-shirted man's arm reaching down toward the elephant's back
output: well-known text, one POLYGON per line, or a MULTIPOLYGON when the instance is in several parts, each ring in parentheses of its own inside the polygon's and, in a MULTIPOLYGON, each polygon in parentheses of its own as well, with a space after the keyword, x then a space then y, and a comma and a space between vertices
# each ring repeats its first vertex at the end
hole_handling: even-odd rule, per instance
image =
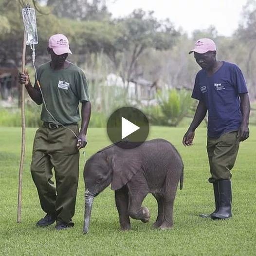
POLYGON ((207 112, 206 106, 204 105, 204 103, 202 101, 200 101, 197 106, 193 121, 183 137, 183 145, 184 146, 192 146, 193 145, 193 139, 195 137, 195 130, 201 124, 203 118, 206 115, 206 112, 207 112))

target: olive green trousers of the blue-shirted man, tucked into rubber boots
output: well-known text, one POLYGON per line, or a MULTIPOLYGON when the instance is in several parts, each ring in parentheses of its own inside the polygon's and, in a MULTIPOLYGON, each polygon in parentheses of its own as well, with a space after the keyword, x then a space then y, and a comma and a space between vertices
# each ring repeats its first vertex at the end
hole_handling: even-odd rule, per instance
POLYGON ((239 149, 238 131, 224 133, 217 139, 207 138, 207 153, 210 165, 210 183, 230 180, 239 149))

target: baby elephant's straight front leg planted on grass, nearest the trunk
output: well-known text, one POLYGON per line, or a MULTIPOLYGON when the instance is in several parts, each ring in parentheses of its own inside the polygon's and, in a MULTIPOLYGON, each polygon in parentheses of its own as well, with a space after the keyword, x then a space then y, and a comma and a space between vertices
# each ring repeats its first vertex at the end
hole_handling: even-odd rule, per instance
POLYGON ((125 186, 115 190, 115 203, 119 214, 121 230, 130 230, 130 218, 128 215, 128 191, 125 186))

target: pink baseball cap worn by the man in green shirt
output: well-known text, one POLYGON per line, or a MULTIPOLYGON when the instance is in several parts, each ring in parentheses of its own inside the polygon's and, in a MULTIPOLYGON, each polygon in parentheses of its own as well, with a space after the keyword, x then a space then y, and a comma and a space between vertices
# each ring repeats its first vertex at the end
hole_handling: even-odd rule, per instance
POLYGON ((56 55, 72 54, 69 49, 69 40, 62 34, 56 34, 49 38, 48 47, 53 49, 56 55))

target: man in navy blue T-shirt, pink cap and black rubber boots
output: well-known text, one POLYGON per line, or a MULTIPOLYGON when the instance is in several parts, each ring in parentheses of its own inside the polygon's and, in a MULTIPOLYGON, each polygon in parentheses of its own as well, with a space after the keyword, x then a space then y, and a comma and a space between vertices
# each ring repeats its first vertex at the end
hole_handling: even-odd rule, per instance
POLYGON ((250 101, 246 82, 236 64, 219 61, 216 45, 201 38, 195 48, 196 62, 201 67, 195 79, 192 98, 199 100, 194 119, 183 137, 184 146, 192 146, 196 128, 208 111, 207 153, 215 197, 215 211, 202 218, 232 217, 231 169, 239 143, 249 137, 250 101))

